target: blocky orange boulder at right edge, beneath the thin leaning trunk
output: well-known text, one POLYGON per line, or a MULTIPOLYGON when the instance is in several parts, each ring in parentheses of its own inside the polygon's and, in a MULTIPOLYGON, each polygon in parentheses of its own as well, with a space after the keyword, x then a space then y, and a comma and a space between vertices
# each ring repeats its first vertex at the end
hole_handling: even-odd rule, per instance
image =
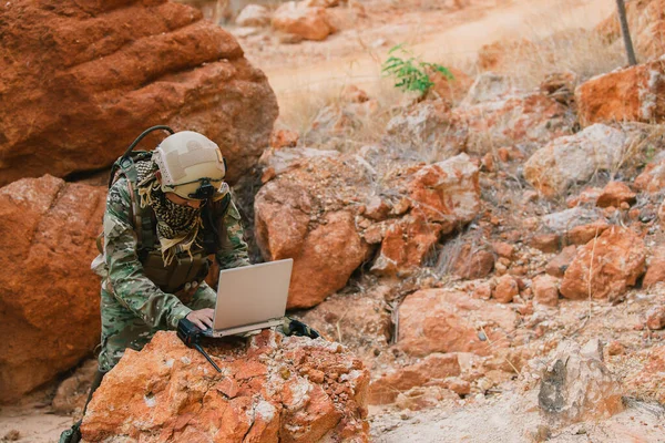
POLYGON ((575 102, 582 126, 626 121, 661 123, 665 121, 665 61, 597 75, 577 86, 575 102))

